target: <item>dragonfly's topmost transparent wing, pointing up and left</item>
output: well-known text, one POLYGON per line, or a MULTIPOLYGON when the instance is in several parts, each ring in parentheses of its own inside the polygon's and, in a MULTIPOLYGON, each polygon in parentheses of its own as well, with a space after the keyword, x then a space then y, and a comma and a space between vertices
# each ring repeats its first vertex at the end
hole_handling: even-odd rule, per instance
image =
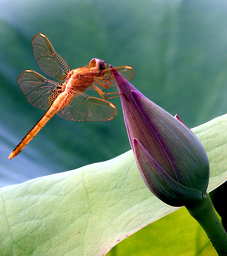
POLYGON ((37 34, 32 39, 34 58, 38 67, 48 76, 63 81, 69 67, 66 61, 54 50, 45 34, 37 34))

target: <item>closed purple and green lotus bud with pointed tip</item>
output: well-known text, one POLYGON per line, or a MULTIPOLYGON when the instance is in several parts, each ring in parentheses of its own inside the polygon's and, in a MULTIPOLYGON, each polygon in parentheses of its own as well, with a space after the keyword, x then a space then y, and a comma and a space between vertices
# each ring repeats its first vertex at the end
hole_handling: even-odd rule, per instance
POLYGON ((130 145, 147 187, 171 206, 190 205, 206 197, 209 162, 195 134, 115 70, 113 75, 130 145))

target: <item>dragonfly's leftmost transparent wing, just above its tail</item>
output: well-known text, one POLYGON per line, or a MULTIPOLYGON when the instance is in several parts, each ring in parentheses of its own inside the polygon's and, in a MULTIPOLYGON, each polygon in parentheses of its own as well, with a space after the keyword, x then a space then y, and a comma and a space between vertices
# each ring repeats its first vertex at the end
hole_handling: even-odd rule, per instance
POLYGON ((18 84, 28 102, 39 109, 48 109, 50 98, 56 98, 62 92, 62 83, 46 79, 32 70, 22 72, 18 84))

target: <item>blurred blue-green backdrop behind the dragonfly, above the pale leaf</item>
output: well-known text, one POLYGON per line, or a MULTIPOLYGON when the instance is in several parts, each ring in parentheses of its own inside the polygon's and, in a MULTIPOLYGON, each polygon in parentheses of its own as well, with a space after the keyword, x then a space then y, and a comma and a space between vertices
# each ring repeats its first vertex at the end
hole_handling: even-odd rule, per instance
POLYGON ((131 83, 192 128, 227 112, 226 13, 224 0, 0 0, 0 186, 130 149, 120 98, 114 98, 118 114, 111 122, 76 123, 54 116, 8 160, 45 113, 27 102, 16 83, 26 69, 43 74, 33 57, 35 34, 46 34, 71 69, 92 58, 133 66, 131 83))

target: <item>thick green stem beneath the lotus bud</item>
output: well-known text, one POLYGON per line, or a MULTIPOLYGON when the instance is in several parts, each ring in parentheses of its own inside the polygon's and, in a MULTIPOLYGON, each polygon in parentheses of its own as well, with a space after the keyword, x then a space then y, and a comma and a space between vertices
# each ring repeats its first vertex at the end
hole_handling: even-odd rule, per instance
POLYGON ((193 205, 187 205, 186 208, 207 233, 217 253, 220 256, 227 255, 227 235, 225 229, 213 209, 211 198, 208 194, 206 196, 206 198, 193 205))

